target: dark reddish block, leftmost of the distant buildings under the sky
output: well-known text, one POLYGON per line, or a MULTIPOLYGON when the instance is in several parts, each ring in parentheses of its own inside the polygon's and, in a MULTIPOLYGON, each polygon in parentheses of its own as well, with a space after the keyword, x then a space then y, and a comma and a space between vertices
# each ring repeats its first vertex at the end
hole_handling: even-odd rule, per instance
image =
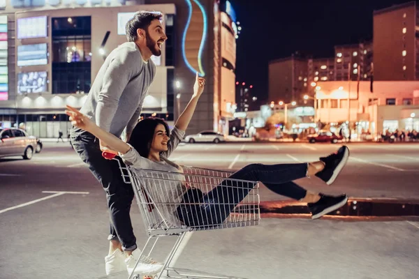
POLYGON ((291 56, 270 61, 268 67, 269 102, 303 100, 308 91, 307 59, 291 56))

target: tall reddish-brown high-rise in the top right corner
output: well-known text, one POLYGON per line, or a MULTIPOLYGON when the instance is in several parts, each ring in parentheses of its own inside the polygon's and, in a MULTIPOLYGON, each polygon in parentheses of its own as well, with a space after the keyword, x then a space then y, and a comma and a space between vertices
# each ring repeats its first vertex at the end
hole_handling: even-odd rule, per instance
POLYGON ((374 80, 419 80, 418 35, 416 1, 374 11, 374 80))

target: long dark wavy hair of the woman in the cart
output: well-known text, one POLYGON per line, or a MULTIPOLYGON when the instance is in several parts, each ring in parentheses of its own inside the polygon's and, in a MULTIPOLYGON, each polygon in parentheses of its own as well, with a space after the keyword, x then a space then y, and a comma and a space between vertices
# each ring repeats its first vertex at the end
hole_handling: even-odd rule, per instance
POLYGON ((166 133, 169 135, 170 130, 168 123, 160 118, 147 117, 135 125, 128 144, 131 144, 131 146, 133 146, 133 148, 140 153, 140 156, 148 158, 154 138, 154 130, 156 130, 156 127, 159 124, 164 126, 166 133))

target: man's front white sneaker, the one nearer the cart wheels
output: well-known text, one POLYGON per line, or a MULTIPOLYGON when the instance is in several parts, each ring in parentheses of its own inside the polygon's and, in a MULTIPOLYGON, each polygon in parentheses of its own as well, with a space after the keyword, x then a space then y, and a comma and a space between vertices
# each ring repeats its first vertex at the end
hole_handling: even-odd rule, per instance
MULTIPOLYGON (((128 271, 128 275, 131 275, 131 273, 133 272, 135 263, 140 254, 141 251, 139 249, 135 249, 133 250, 132 254, 125 259, 126 270, 128 271)), ((145 255, 142 255, 140 258, 140 262, 135 268, 135 274, 139 274, 140 276, 155 275, 156 273, 159 273, 162 268, 163 264, 161 264, 160 262, 155 262, 153 259, 150 259, 145 255)))

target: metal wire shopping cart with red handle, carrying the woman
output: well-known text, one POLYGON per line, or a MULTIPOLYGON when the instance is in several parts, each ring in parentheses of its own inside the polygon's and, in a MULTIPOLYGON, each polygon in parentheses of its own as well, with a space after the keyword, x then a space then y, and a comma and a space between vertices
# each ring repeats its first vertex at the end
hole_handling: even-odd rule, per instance
MULTIPOLYGON (((124 182, 133 186, 149 236, 140 257, 149 257, 161 237, 177 237, 163 262, 163 269, 155 278, 235 278, 177 269, 174 265, 193 232, 259 224, 257 181, 228 179, 231 172, 198 167, 181 166, 183 173, 133 169, 122 165, 117 158, 113 160, 118 161, 124 182), (182 190, 189 195, 183 196, 182 190)), ((131 278, 142 279, 134 273, 128 279, 131 278)))

